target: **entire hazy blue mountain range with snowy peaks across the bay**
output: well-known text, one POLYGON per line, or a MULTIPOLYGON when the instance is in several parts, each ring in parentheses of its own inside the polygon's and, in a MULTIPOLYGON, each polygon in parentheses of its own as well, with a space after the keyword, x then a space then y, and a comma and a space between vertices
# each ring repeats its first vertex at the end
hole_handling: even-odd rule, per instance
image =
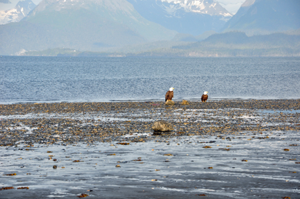
MULTIPOLYGON (((299 2, 247 0, 232 17, 213 0, 42 0, 38 6, 31 0, 19 1, 15 10, 18 7, 18 13, 24 13, 23 18, 17 17, 17 11, 10 12, 14 13, 10 16, 15 17, 10 17, 8 24, 0 25, 0 55, 25 55, 26 52, 47 49, 127 55, 142 52, 151 55, 153 53, 147 52, 179 52, 185 49, 187 53, 203 49, 203 44, 217 49, 224 46, 229 38, 242 38, 241 35, 235 38, 216 34, 230 31, 247 34, 244 37, 247 42, 236 45, 259 46, 258 37, 249 39, 249 35, 300 28, 299 2), (12 23, 12 20, 19 22, 12 23)), ((281 46, 299 33, 283 35, 276 35, 276 38, 285 38, 281 40, 281 46)), ((268 40, 268 37, 271 36, 263 40, 268 40)), ((231 48, 233 44, 231 42, 225 46, 231 48)), ((264 43, 267 44, 271 45, 271 42, 264 43)), ((276 53, 278 55, 278 51, 276 53)), ((292 53, 295 54, 297 49, 292 53)))

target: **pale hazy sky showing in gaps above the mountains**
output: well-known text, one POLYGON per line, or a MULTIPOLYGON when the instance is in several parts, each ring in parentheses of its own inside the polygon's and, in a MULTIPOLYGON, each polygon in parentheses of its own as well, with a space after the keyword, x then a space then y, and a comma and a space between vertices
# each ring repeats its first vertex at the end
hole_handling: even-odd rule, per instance
MULTIPOLYGON (((17 2, 20 0, 10 0, 11 3, 0 3, 0 10, 9 10, 11 8, 14 8, 17 5, 17 2)), ((31 0, 33 3, 38 5, 40 1, 42 0, 31 0)), ((232 14, 235 14, 238 12, 238 9, 244 3, 246 0, 215 0, 218 1, 228 12, 231 12, 232 14)), ((0 0, 1 2, 1 0, 0 0)))

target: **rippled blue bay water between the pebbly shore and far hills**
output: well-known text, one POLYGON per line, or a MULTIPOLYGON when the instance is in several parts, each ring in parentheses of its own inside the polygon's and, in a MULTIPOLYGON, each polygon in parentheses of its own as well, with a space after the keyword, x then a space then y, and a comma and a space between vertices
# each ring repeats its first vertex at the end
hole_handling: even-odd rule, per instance
POLYGON ((0 58, 0 103, 300 98, 300 58, 0 58))

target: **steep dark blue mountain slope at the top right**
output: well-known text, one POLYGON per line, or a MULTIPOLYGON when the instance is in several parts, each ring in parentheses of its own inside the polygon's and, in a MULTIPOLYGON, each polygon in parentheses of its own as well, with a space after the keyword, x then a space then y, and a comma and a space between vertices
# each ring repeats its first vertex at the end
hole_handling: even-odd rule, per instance
POLYGON ((299 0, 247 0, 221 31, 261 35, 300 28, 299 0))

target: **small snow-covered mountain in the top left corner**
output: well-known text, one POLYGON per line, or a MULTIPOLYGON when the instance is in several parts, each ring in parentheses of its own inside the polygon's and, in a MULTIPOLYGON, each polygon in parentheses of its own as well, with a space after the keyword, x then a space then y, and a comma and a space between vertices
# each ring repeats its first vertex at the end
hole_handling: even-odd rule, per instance
POLYGON ((0 24, 8 24, 10 22, 18 22, 28 15, 35 8, 35 3, 31 0, 19 1, 15 8, 0 11, 0 24))

